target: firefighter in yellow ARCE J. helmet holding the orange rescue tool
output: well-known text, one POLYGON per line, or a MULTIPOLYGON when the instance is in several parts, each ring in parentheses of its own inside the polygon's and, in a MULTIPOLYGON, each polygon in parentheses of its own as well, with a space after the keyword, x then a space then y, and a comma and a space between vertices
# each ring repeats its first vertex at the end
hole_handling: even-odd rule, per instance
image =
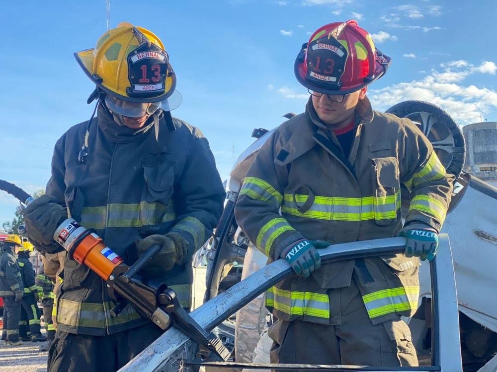
MULTIPOLYGON (((46 195, 25 210, 28 235, 56 253, 54 231, 69 215, 127 264, 159 244, 140 274, 166 283, 189 309, 191 258, 224 200, 207 139, 171 117, 181 102, 176 75, 149 30, 121 23, 75 57, 96 84, 89 101, 97 100, 97 117, 57 141, 46 195)), ((63 264, 49 371, 116 371, 161 334, 129 304, 111 316, 115 304, 100 277, 67 257, 63 264)))

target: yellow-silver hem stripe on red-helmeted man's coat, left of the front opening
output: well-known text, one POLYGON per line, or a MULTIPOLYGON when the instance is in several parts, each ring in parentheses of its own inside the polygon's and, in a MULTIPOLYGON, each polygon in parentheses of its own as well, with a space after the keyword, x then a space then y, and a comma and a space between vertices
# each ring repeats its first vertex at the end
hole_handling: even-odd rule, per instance
POLYGON ((330 300, 327 294, 297 292, 271 287, 266 292, 266 306, 289 315, 330 317, 330 300))

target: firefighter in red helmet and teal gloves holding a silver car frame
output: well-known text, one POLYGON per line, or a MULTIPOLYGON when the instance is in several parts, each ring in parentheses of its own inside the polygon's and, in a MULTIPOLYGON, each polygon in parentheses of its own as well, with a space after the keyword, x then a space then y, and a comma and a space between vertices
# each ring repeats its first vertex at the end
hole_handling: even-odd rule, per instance
POLYGON ((417 366, 409 326, 454 176, 408 119, 373 111, 390 58, 356 21, 319 28, 295 61, 310 98, 251 164, 235 209, 248 238, 295 276, 266 293, 272 363, 417 366), (405 224, 401 185, 411 191, 405 224), (405 254, 321 265, 330 244, 407 237, 405 254), (304 341, 305 340, 305 341, 304 341))

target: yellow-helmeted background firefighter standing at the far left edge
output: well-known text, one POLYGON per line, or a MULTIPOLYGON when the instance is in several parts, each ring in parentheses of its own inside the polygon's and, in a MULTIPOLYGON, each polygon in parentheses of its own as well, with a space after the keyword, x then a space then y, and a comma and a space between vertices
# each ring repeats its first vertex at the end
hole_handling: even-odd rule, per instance
POLYGON ((2 340, 8 345, 20 345, 20 301, 24 294, 16 249, 22 247, 21 238, 11 234, 4 241, 0 257, 0 296, 3 298, 2 340))

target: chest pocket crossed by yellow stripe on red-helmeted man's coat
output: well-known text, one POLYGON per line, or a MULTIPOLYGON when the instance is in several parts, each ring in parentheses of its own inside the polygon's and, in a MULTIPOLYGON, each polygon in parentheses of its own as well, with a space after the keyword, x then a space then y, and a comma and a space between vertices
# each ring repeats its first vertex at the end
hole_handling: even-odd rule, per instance
POLYGON ((379 226, 387 226, 397 220, 401 205, 399 161, 393 156, 371 161, 374 220, 379 226))

